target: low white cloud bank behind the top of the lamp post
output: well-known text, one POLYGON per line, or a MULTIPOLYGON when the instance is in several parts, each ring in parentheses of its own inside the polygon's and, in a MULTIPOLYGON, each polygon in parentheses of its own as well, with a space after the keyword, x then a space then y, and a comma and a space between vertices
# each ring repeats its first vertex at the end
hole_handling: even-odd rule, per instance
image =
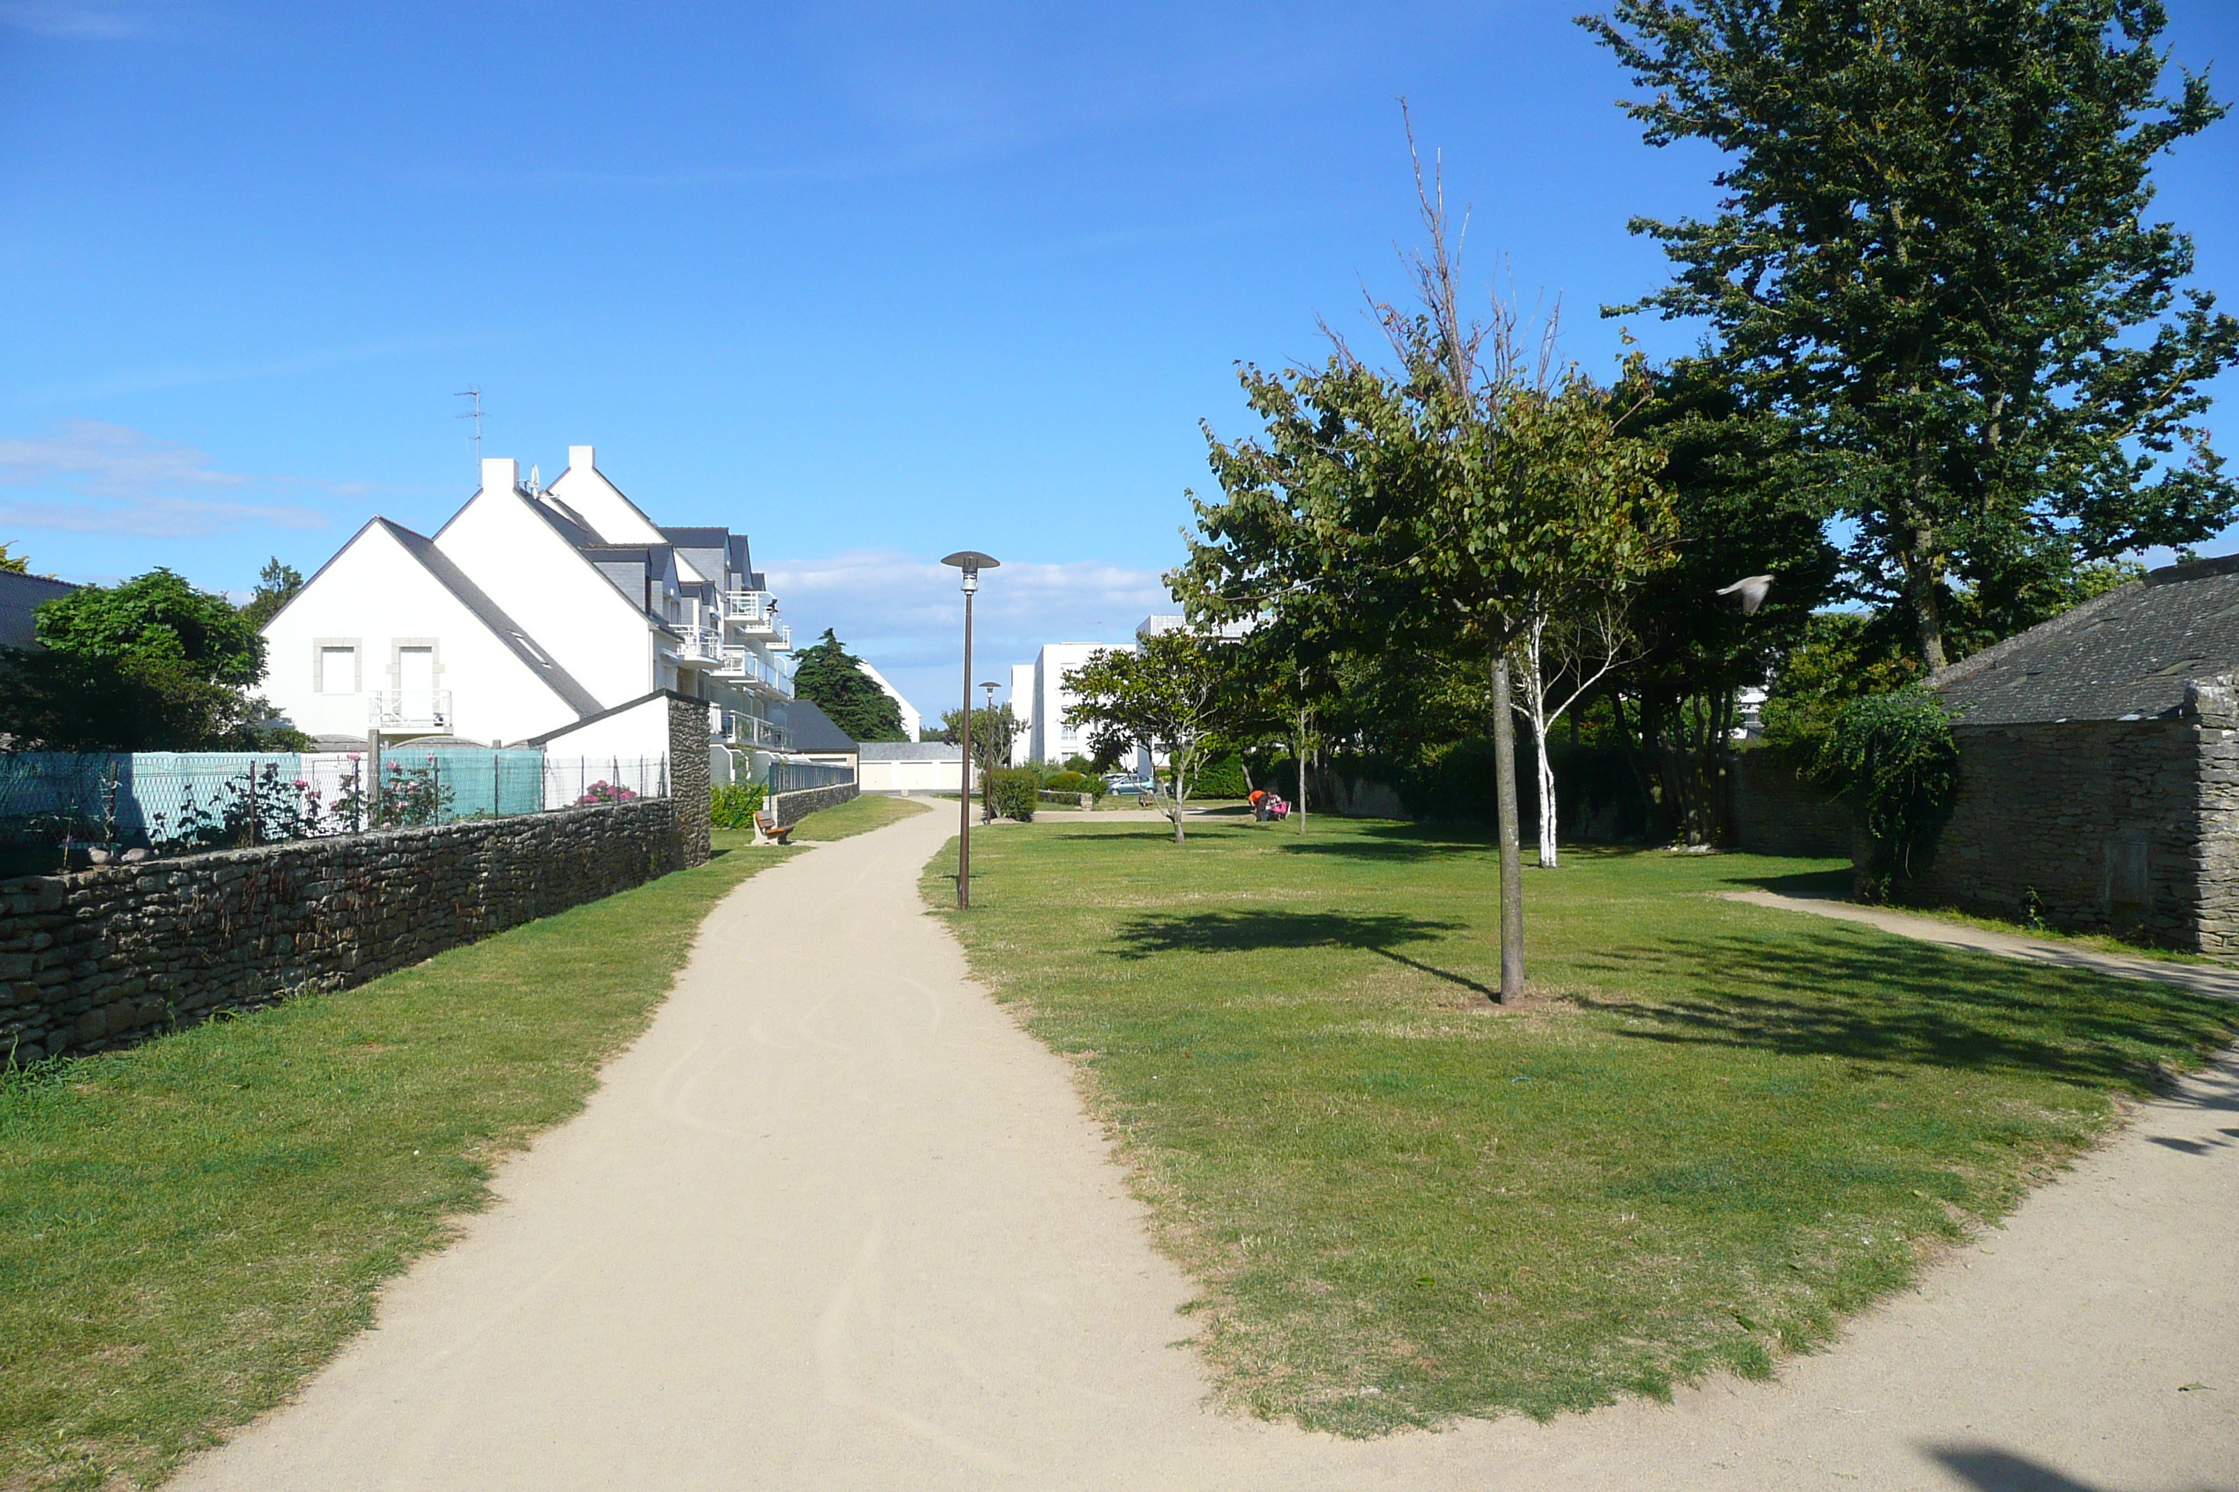
MULTIPOLYGON (((761 568, 795 646, 831 626, 931 718, 963 693, 965 602, 949 566, 898 550, 851 550, 761 568)), ((981 573, 972 671, 1008 689, 1010 664, 1032 662, 1043 642, 1133 642, 1137 622, 1171 608, 1158 570, 1093 559, 1005 561, 981 573)))

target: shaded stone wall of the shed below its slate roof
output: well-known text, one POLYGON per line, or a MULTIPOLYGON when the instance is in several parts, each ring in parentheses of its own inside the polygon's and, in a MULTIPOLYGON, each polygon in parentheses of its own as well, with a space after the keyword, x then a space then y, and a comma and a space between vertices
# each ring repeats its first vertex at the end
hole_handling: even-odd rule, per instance
POLYGON ((2239 946, 2232 729, 2194 716, 1957 725, 1952 736, 1959 796, 1903 899, 2179 948, 2239 946))

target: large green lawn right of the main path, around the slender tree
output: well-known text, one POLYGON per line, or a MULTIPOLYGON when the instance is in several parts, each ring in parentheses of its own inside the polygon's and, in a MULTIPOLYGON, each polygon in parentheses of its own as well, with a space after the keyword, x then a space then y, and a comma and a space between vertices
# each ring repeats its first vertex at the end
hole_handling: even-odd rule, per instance
POLYGON ((1476 834, 1021 825, 927 904, 1117 1127, 1229 1403, 1377 1434, 1771 1371, 2232 1033, 2228 1004, 1715 899, 1825 861, 1527 870, 1476 834))

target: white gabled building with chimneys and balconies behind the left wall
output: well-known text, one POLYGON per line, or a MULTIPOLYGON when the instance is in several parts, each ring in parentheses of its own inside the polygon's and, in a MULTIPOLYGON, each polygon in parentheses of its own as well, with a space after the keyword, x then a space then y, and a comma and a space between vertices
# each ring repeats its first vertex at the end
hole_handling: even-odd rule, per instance
POLYGON ((484 461, 434 537, 372 519, 264 642, 273 705, 334 743, 665 756, 676 691, 710 702, 721 745, 786 745, 793 638, 746 535, 656 526, 589 445, 542 492, 515 461, 484 461))

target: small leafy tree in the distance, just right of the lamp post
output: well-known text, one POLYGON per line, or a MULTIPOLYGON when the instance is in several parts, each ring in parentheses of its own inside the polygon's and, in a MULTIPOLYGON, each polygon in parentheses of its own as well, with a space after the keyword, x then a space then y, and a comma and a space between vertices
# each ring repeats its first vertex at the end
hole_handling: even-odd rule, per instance
POLYGON ((1066 725, 1086 725, 1102 761, 1128 747, 1167 758, 1173 774, 1173 843, 1182 843, 1182 805, 1205 765, 1211 740, 1229 725, 1234 698, 1225 642, 1175 631, 1144 638, 1133 653, 1097 649, 1079 669, 1066 669, 1066 725))

